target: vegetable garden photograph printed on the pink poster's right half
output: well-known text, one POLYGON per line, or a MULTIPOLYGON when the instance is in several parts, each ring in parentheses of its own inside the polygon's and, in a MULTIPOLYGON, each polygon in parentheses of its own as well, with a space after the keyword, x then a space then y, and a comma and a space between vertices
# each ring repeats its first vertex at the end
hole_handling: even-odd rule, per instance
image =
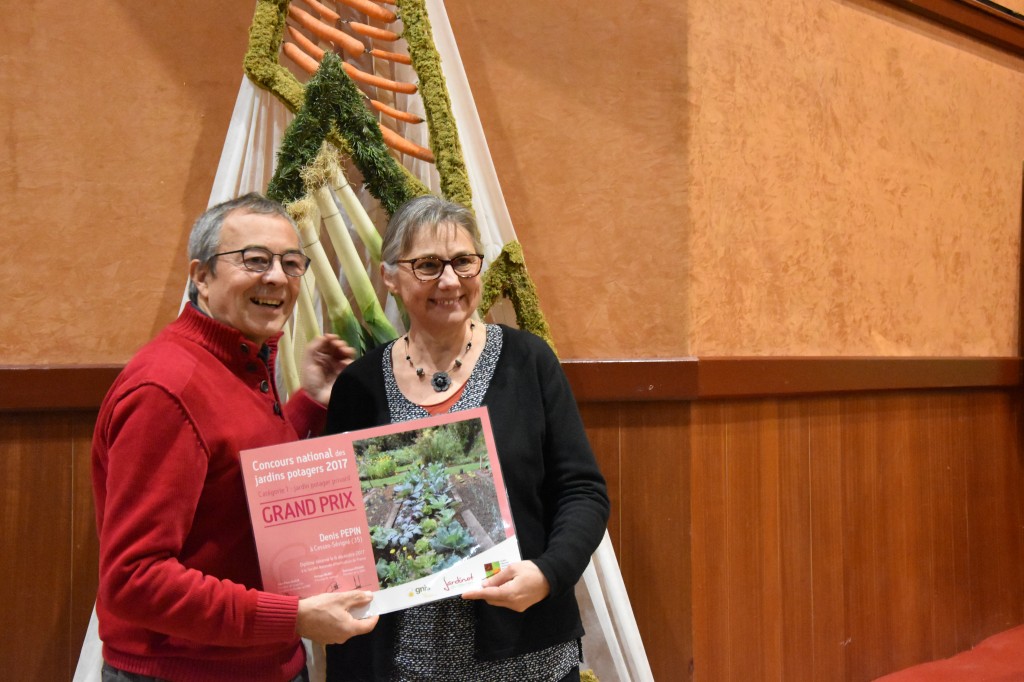
POLYGON ((352 452, 381 589, 442 571, 513 535, 479 418, 354 440, 352 452))

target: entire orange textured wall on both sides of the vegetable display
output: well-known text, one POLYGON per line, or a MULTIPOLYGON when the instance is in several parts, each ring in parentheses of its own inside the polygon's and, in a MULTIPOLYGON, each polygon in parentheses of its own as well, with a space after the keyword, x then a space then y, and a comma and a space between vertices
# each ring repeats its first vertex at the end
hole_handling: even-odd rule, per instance
MULTIPOLYGON (((563 357, 1016 352, 1024 61, 881 0, 447 0, 563 357)), ((170 318, 250 3, 34 3, 0 45, 0 364, 170 318)))

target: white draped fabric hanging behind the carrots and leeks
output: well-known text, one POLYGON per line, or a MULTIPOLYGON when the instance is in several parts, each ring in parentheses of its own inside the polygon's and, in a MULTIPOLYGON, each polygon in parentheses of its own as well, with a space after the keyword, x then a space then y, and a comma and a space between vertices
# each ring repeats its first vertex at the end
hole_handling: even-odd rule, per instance
MULTIPOLYGON (((516 239, 515 230, 490 160, 444 3, 442 0, 426 0, 426 6, 459 128, 473 193, 473 209, 485 255, 490 262, 505 244, 516 239)), ((406 82, 416 80, 411 71, 399 73, 399 77, 406 82)), ((408 98, 408 101, 399 99, 399 108, 422 115, 422 102, 418 96, 398 97, 408 98)), ((291 120, 291 113, 273 94, 254 86, 248 78, 242 79, 210 191, 209 206, 247 191, 265 190, 273 174, 281 139, 291 120)), ((407 126, 400 132, 411 141, 428 146, 425 127, 407 126)), ((437 173, 431 164, 413 160, 407 163, 407 167, 432 191, 440 194, 437 173)), ((380 216, 379 207, 368 193, 362 191, 360 200, 372 217, 380 216)), ((182 304, 185 300, 182 297, 182 304)), ((514 324, 514 315, 508 306, 493 310, 492 315, 501 322, 514 324)), ((653 680, 607 532, 594 553, 583 580, 577 586, 577 597, 587 631, 584 638, 583 668, 593 670, 601 682, 653 680)), ((309 654, 310 679, 321 682, 324 679, 323 647, 310 642, 305 644, 309 654)), ((74 682, 99 682, 102 666, 100 647, 96 613, 93 609, 74 682)))

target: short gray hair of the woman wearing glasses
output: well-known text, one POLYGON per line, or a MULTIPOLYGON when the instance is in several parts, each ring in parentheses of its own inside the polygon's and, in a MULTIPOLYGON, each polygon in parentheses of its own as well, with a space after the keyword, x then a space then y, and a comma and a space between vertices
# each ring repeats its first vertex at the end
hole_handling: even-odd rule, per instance
POLYGON ((381 263, 389 272, 394 272, 398 259, 402 254, 409 253, 422 228, 432 229, 436 233, 442 225, 455 225, 466 230, 473 240, 476 252, 483 253, 473 213, 460 204, 425 195, 406 202, 391 216, 381 243, 381 263))

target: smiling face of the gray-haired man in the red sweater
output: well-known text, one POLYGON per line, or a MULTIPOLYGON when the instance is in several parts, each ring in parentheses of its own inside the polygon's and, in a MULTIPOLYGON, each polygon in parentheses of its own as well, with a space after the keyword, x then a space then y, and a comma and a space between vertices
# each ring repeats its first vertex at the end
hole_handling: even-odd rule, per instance
MULTIPOLYGON (((217 252, 248 247, 285 253, 298 250, 299 237, 281 216, 234 211, 224 219, 217 252)), ((280 258, 273 258, 265 272, 248 270, 241 253, 218 257, 212 268, 194 260, 189 272, 199 290, 199 307, 257 345, 284 328, 301 281, 285 274, 280 258)))

